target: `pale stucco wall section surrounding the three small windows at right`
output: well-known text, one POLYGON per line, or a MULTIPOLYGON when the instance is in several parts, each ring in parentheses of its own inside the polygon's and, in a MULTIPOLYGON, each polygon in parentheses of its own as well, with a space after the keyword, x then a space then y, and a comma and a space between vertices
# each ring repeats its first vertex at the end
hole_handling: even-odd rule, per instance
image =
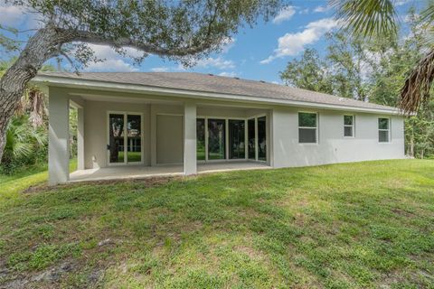
POLYGON ((271 117, 274 167, 345 163, 404 157, 403 117, 316 110, 317 144, 298 144, 298 111, 274 107, 271 117), (344 115, 355 116, 355 136, 344 137, 344 115), (391 118, 391 142, 378 142, 378 117, 391 118))

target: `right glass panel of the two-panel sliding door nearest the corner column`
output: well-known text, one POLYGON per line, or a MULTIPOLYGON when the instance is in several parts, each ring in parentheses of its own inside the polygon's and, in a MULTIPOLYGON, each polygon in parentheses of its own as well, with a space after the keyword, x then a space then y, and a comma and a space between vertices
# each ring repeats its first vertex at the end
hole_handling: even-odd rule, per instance
POLYGON ((142 161, 142 117, 127 115, 127 163, 142 161))

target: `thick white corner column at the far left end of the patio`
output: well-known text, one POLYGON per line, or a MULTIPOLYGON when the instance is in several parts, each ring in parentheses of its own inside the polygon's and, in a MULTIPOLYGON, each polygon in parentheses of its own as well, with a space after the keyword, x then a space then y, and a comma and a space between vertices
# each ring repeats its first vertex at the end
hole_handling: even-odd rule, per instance
POLYGON ((49 89, 48 182, 68 182, 70 178, 70 99, 61 89, 49 89))

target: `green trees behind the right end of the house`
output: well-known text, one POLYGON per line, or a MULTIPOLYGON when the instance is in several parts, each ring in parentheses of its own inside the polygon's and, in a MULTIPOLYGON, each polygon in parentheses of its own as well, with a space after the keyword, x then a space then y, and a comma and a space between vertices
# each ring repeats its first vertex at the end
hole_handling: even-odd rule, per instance
MULTIPOLYGON (((409 71, 422 56, 420 29, 414 11, 410 11, 410 35, 366 41, 349 31, 328 34, 327 53, 319 58, 315 50, 306 50, 300 60, 288 62, 280 77, 288 85, 395 107, 409 71)), ((416 116, 405 121, 407 154, 434 155, 434 106, 423 104, 416 116)))

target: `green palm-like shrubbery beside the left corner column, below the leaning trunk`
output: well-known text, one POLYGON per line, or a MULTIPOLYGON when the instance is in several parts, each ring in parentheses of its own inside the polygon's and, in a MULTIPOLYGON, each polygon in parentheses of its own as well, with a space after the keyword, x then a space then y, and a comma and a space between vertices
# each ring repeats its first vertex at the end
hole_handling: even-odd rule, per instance
POLYGON ((13 117, 6 130, 5 152, 2 159, 4 172, 14 172, 16 167, 45 160, 47 132, 43 126, 33 127, 27 116, 13 117))

